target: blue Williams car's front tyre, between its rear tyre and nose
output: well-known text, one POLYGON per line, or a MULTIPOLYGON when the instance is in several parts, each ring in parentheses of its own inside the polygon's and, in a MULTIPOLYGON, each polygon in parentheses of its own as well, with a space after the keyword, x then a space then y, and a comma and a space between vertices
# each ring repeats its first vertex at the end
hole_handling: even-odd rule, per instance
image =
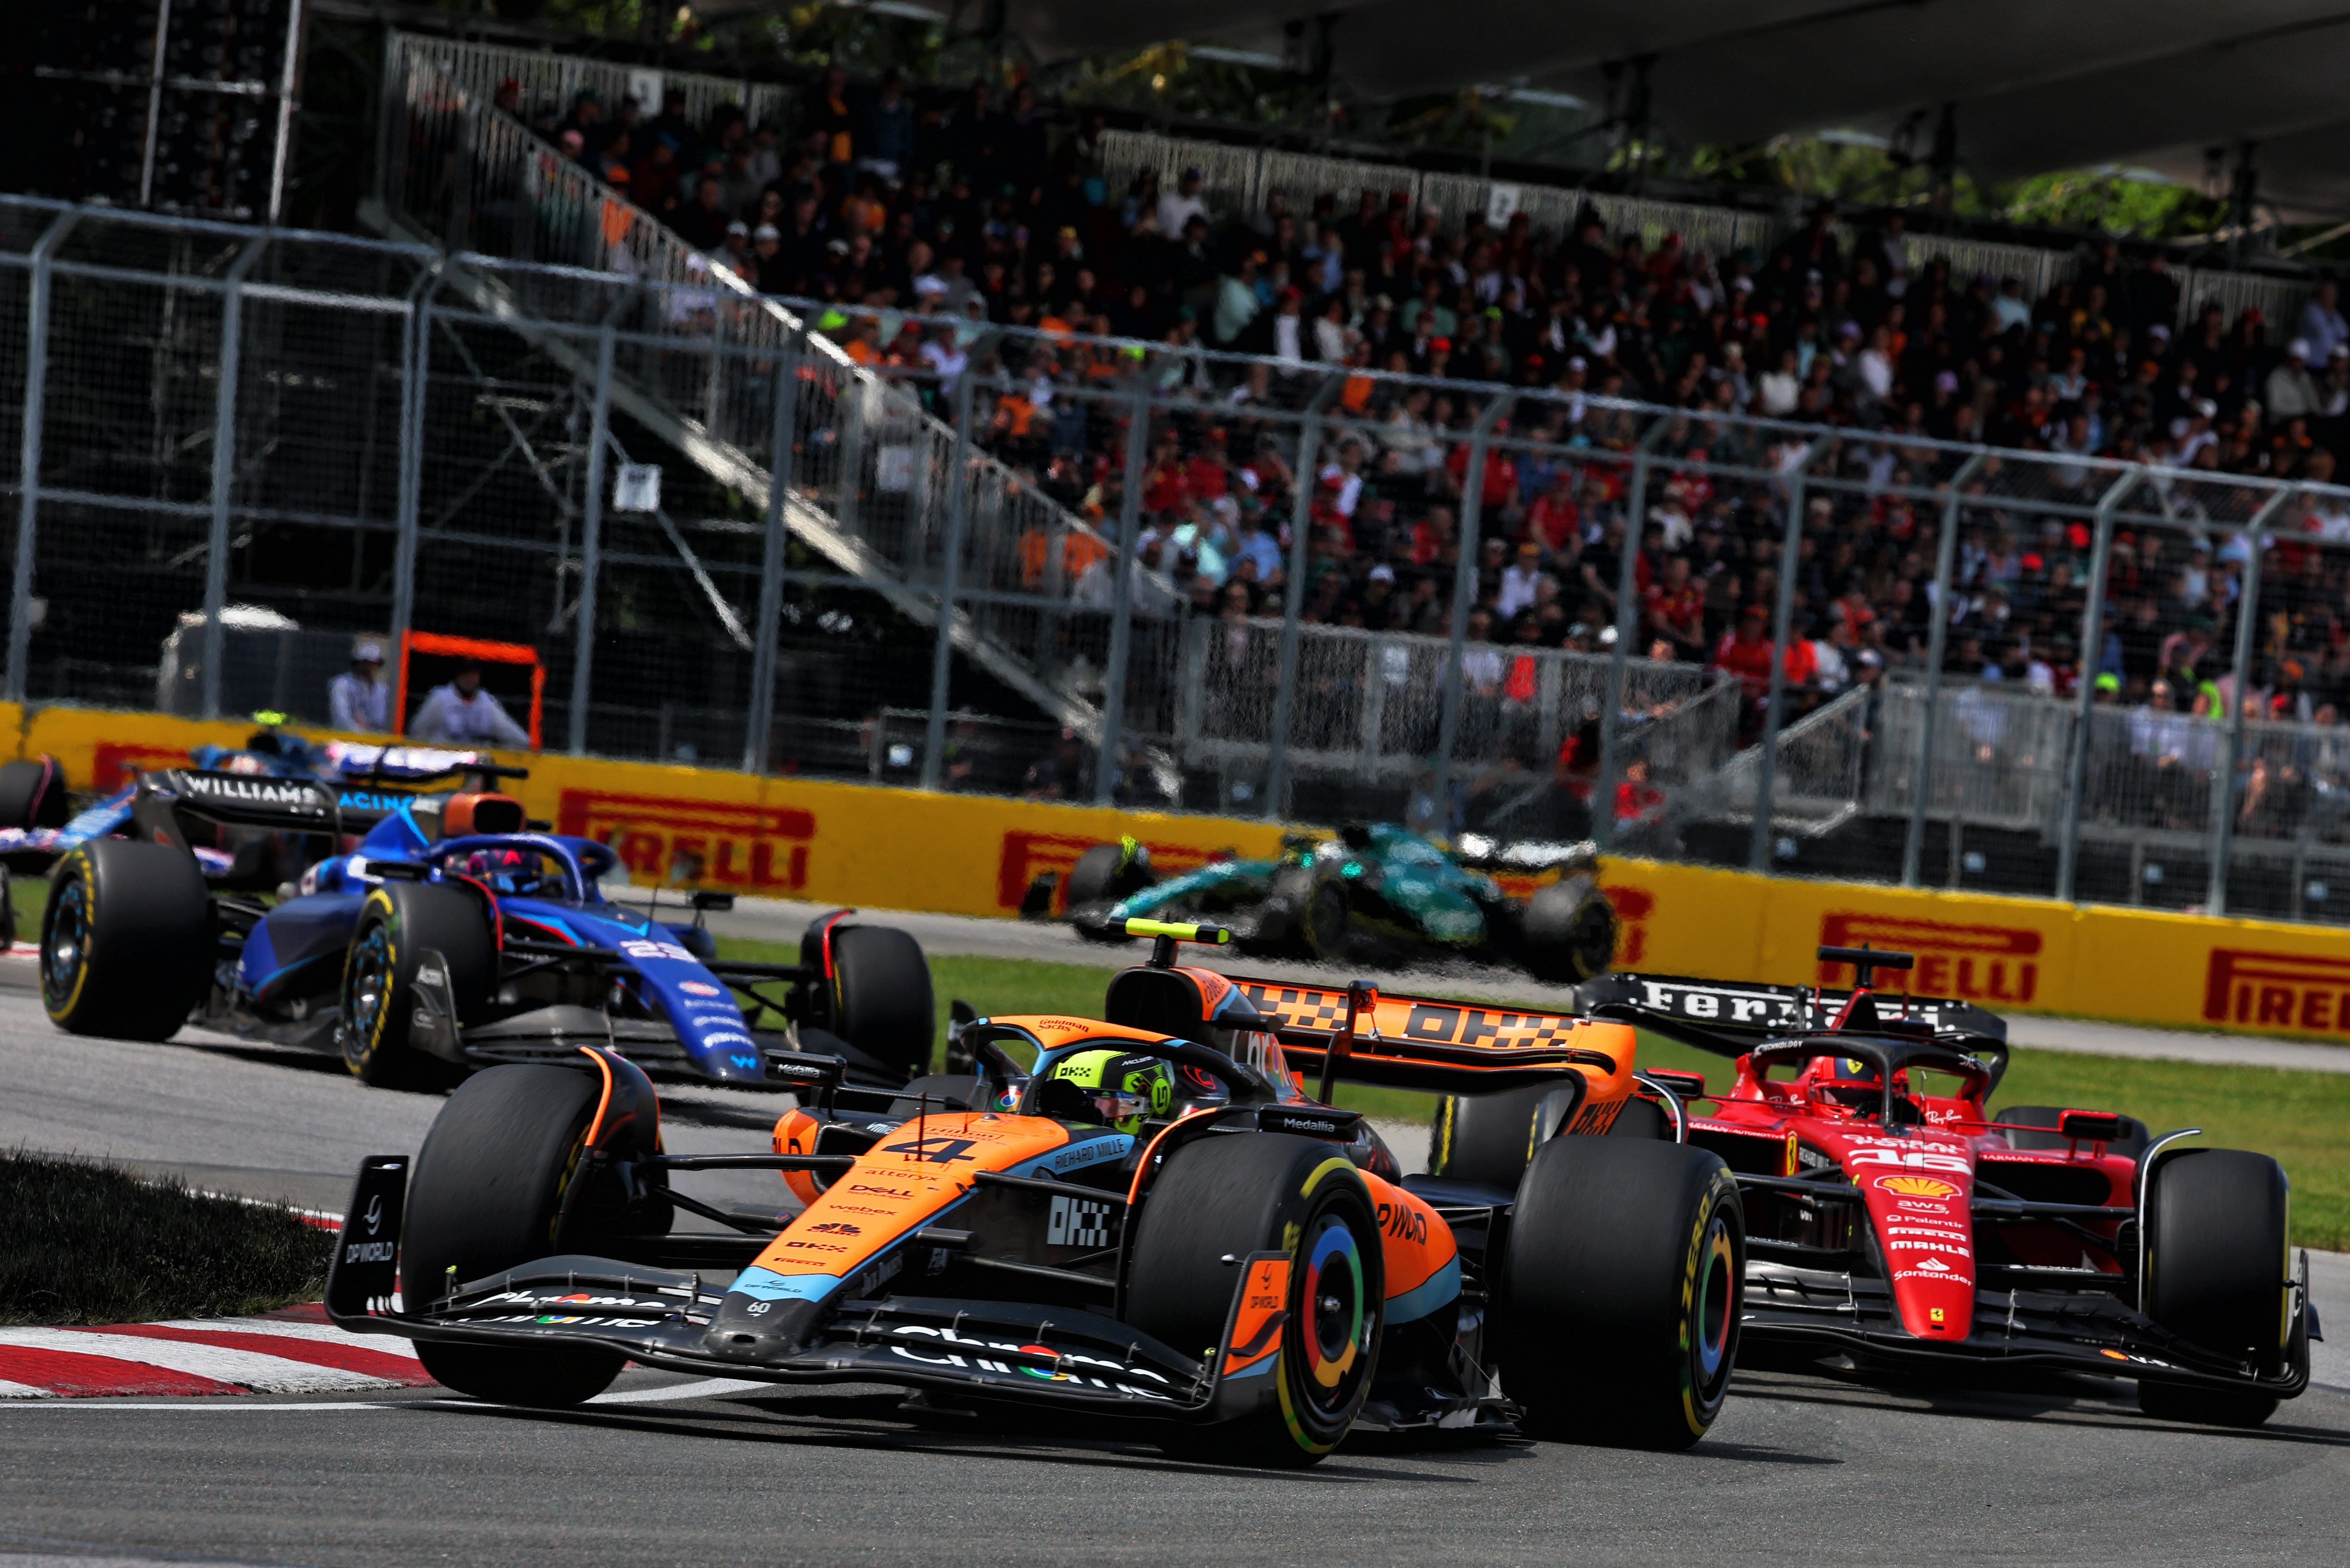
POLYGON ((458 1070, 411 1040, 428 948, 449 967, 458 1021, 475 1019, 498 969, 479 899, 442 883, 388 880, 369 890, 343 953, 336 1042, 343 1066, 378 1089, 435 1089, 458 1070))

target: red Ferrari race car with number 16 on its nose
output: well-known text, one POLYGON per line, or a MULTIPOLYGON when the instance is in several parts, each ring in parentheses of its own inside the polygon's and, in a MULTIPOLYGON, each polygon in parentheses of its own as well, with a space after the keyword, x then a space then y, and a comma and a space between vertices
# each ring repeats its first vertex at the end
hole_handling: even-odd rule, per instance
MULTIPOLYGON (((2148 1415, 2258 1425, 2310 1380, 2308 1256, 2275 1160, 2110 1110, 1988 1110, 2007 1026, 1875 991, 1906 953, 1819 948, 1852 991, 1610 974, 1582 1009, 1732 1056, 1650 1073, 1746 1202, 1744 1343, 1859 1366, 2134 1378, 2148 1415)), ((1490 1113, 1488 1113, 1490 1117, 1490 1113)), ((1490 1129, 1488 1129, 1490 1141, 1490 1129)))

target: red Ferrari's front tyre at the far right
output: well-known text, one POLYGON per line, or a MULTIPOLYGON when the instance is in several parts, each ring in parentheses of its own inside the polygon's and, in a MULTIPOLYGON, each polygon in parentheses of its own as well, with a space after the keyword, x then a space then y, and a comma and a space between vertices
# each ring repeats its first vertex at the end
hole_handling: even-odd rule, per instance
MULTIPOLYGON (((2190 1148, 2167 1157, 2146 1192, 2146 1314, 2200 1350, 2275 1378, 2291 1326, 2289 1197, 2284 1167, 2268 1155, 2190 1148)), ((2164 1420, 2258 1427, 2277 1397, 2141 1383, 2138 1408, 2164 1420)))

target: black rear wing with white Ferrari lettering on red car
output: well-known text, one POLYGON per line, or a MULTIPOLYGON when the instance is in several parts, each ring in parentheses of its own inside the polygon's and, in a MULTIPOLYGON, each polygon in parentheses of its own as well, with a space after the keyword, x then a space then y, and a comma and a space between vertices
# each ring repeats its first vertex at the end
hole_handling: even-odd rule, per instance
MULTIPOLYGON (((1600 974, 1574 988, 1586 1019, 1619 1019, 1716 1056, 1744 1056, 1765 1040, 1826 1033, 1845 1016, 1852 991, 1706 981, 1687 974, 1600 974)), ((2007 1059, 2007 1019, 1955 998, 1861 993, 1847 1028, 1932 1040, 2007 1059)))

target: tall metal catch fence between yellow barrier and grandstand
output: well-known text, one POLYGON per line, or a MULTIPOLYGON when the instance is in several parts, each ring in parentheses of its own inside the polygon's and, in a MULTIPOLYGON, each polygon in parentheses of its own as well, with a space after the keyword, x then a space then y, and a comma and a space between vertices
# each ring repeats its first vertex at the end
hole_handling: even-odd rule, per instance
POLYGON ((364 638, 578 753, 2350 901, 2343 491, 759 298, 430 103, 416 242, 0 202, 7 697, 324 721, 364 638))

